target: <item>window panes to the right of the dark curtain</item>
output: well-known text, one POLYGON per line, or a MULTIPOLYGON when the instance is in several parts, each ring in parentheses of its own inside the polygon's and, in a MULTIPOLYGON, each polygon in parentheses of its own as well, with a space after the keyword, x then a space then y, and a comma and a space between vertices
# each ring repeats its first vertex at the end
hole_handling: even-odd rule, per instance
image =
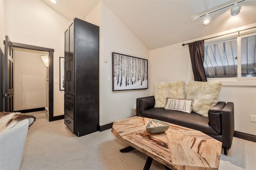
POLYGON ((238 47, 237 38, 220 41, 204 46, 204 69, 207 78, 256 77, 256 35, 241 38, 238 47), (238 62, 238 49, 241 50, 241 62, 238 62), (241 66, 238 67, 238 63, 241 66))

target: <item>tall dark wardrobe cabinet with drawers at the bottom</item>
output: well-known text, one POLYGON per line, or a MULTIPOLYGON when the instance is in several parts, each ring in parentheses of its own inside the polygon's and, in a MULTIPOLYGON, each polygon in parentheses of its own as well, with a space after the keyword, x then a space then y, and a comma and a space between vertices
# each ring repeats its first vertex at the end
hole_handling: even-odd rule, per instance
POLYGON ((65 32, 64 123, 78 137, 98 131, 99 27, 75 18, 65 32))

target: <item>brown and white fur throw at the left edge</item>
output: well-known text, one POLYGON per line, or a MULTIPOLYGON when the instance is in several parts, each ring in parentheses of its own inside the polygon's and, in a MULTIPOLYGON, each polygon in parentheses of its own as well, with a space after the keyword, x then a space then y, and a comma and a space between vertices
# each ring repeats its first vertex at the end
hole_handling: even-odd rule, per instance
POLYGON ((14 127, 16 123, 23 119, 28 119, 30 126, 32 123, 34 123, 36 117, 20 112, 0 112, 0 132, 14 127))

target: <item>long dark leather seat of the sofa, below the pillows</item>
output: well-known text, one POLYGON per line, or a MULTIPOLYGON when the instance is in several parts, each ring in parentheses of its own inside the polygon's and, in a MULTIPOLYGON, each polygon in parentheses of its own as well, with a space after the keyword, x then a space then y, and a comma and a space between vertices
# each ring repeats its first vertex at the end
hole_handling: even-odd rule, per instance
POLYGON ((219 134, 209 125, 209 119, 207 117, 198 115, 194 112, 191 112, 190 114, 184 114, 181 111, 166 110, 164 108, 151 108, 142 111, 140 115, 188 127, 202 131, 204 133, 210 133, 214 135, 219 134))

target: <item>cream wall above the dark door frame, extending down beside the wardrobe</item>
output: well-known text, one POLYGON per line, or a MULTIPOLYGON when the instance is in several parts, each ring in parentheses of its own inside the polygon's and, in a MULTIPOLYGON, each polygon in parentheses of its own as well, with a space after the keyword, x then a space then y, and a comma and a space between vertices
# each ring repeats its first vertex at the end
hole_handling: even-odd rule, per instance
MULTIPOLYGON (((71 21, 41 0, 4 1, 4 34, 17 43, 54 49, 54 79, 64 57, 64 31, 71 21)), ((54 83, 54 116, 64 114, 64 91, 54 83)))

